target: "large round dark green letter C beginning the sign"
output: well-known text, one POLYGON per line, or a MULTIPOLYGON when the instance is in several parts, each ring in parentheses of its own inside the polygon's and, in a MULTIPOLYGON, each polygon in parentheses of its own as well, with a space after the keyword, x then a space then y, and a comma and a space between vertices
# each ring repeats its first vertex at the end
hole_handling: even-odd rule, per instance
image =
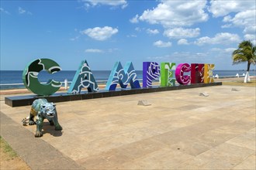
POLYGON ((38 95, 48 96, 61 88, 61 82, 49 80, 47 84, 40 83, 37 76, 41 70, 57 73, 61 67, 52 59, 36 59, 23 70, 22 80, 28 90, 38 95))

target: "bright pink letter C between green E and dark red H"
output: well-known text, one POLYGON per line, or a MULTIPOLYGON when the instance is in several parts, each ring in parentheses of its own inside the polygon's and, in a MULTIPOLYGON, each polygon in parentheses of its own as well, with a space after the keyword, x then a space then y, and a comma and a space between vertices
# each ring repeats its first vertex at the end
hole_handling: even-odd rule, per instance
POLYGON ((191 67, 188 63, 181 63, 177 66, 177 69, 175 70, 175 76, 176 80, 180 84, 188 84, 190 83, 190 76, 184 75, 185 72, 190 72, 191 67))

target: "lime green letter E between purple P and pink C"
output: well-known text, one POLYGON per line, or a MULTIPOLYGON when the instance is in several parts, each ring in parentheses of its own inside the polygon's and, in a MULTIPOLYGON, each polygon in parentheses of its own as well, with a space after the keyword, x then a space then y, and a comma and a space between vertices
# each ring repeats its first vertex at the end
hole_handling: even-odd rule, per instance
POLYGON ((161 63, 161 87, 175 86, 175 63, 161 63))

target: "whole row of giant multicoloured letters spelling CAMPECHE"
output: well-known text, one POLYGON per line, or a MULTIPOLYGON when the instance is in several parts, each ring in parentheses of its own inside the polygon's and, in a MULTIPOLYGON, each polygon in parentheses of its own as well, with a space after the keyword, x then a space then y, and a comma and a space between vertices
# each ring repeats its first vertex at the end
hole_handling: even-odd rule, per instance
MULTIPOLYGON (((176 68, 175 63, 161 63, 159 65, 156 62, 144 62, 143 87, 152 87, 152 80, 156 80, 159 76, 161 87, 175 86, 175 80, 183 85, 213 83, 213 69, 214 64, 192 63, 189 65, 188 63, 180 63, 176 68)), ((22 80, 25 87, 33 93, 49 96, 61 88, 61 82, 49 80, 47 84, 40 83, 37 76, 41 70, 57 73, 61 71, 61 66, 52 59, 36 59, 23 70, 22 80)), ((132 62, 126 63, 124 68, 120 62, 115 63, 106 83, 106 90, 116 90, 117 84, 122 88, 126 88, 129 84, 132 89, 141 88, 132 62)), ((98 83, 95 81, 86 60, 81 62, 67 93, 81 93, 82 88, 87 88, 88 92, 99 91, 98 83)))

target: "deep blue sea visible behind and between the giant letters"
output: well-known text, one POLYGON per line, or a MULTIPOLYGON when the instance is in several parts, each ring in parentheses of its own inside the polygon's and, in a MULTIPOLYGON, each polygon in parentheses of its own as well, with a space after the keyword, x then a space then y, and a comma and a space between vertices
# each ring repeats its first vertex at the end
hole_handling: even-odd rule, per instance
MULTIPOLYGON (((0 70, 0 90, 9 90, 9 89, 20 89, 26 88, 22 81, 22 72, 17 70, 0 70)), ((47 71, 41 71, 38 75, 38 79, 41 83, 46 83, 48 80, 53 79, 60 82, 63 82, 67 79, 67 82, 70 84, 73 80, 74 74, 76 71, 60 71, 54 74, 47 73, 47 71)), ((109 79, 109 75, 111 73, 110 70, 95 70, 93 71, 93 76, 95 80, 99 84, 106 84, 107 80, 109 79)), ((137 78, 142 81, 143 72, 142 70, 136 71, 137 78)), ((236 77, 236 75, 243 76, 246 73, 245 70, 213 70, 213 76, 216 74, 220 78, 226 77, 236 77)), ((256 76, 256 70, 250 71, 250 76, 256 76)))

